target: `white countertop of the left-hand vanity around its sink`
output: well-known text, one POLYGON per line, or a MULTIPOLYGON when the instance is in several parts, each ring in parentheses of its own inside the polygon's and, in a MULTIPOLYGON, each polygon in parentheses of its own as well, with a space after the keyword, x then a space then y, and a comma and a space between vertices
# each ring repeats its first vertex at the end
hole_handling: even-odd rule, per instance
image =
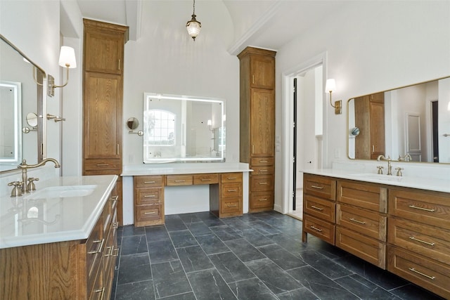
POLYGON ((36 181, 33 193, 0 197, 0 249, 86 239, 116 181, 116 175, 56 177, 36 181))

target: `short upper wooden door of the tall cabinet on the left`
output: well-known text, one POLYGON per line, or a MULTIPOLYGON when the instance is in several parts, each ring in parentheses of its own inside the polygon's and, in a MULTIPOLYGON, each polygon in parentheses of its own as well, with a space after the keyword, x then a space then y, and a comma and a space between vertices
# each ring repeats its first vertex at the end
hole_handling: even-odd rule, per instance
POLYGON ((108 34, 98 30, 86 31, 84 70, 122 74, 123 34, 108 34))

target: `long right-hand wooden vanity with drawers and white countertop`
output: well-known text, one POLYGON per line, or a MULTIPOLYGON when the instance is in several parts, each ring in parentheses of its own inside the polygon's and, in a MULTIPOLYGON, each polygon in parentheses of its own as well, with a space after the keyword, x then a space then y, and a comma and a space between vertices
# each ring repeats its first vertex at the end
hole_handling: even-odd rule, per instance
POLYGON ((450 181, 304 171, 302 240, 315 235, 450 299, 450 181))

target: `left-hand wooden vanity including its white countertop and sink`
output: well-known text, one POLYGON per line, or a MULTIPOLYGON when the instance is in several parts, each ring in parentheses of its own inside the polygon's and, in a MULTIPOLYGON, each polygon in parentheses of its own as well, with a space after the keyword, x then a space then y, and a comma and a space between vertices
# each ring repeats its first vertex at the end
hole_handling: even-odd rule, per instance
POLYGON ((54 177, 0 197, 1 299, 109 299, 117 176, 54 177))

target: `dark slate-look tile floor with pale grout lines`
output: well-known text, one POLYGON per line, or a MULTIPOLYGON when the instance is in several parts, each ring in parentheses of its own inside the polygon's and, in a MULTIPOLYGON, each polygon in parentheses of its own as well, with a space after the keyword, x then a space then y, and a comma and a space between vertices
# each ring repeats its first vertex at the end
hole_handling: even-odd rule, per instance
POLYGON ((275 211, 166 216, 118 230, 111 299, 441 299, 309 235, 275 211))

